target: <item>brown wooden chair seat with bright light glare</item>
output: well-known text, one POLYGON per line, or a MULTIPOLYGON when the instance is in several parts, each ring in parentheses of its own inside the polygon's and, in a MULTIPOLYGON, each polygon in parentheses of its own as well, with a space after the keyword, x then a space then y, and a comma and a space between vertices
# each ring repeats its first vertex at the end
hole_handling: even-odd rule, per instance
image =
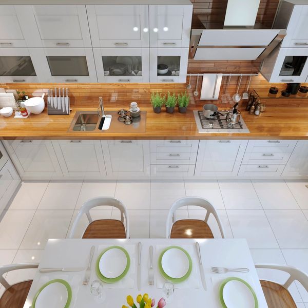
POLYGON ((214 239, 214 235, 208 224, 203 220, 182 219, 172 225, 170 238, 214 239))

